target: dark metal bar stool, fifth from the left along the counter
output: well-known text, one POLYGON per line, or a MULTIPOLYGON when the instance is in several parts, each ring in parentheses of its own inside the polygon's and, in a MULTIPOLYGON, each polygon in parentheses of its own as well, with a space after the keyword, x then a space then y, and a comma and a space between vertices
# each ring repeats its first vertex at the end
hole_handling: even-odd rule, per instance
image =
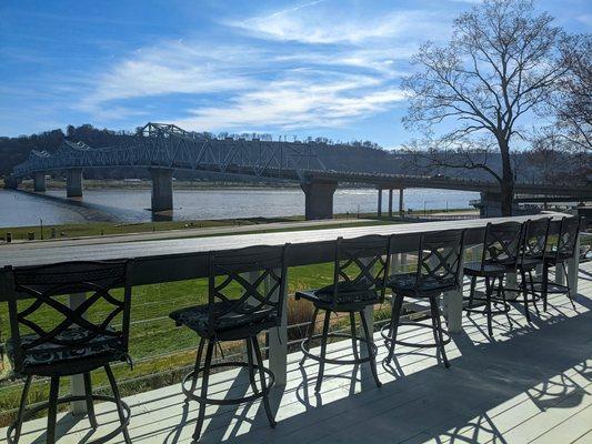
POLYGON ((480 261, 464 264, 464 274, 471 278, 469 303, 463 307, 471 313, 482 313, 488 316, 488 333, 493 336, 492 317, 499 314, 508 315, 510 304, 505 297, 504 279, 508 273, 515 272, 522 242, 523 226, 519 222, 488 223, 483 239, 483 252, 480 261), (476 279, 485 280, 485 295, 475 295, 476 279), (495 285, 498 281, 498 285, 495 285), (493 294, 495 292, 495 294, 493 294), (484 309, 474 306, 475 301, 484 302, 484 309), (495 307, 492 307, 492 304, 495 307), (501 304, 502 307, 496 306, 501 304))

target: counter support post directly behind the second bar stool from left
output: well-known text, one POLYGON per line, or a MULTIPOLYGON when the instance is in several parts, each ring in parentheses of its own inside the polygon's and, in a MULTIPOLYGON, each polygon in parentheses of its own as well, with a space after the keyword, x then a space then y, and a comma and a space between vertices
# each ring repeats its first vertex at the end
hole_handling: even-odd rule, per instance
MULTIPOLYGON (((281 270, 275 270, 275 273, 280 273, 281 270)), ((283 276, 284 282, 288 281, 288 270, 283 276)), ((265 280, 265 284, 269 285, 269 279, 265 280)), ((273 300, 278 301, 282 296, 281 291, 288 293, 288 285, 283 285, 283 289, 278 287, 273 300)), ((275 376, 275 385, 285 385, 288 375, 288 294, 283 295, 284 303, 282 307, 282 315, 280 325, 277 329, 269 331, 269 369, 275 376)))

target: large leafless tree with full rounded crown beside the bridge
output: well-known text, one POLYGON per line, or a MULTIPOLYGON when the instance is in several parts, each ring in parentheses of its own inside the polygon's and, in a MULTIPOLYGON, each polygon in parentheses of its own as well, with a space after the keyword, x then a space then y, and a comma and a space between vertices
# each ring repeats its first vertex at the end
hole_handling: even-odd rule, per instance
MULTIPOLYGON (((404 80, 412 92, 403 123, 438 140, 484 142, 501 154, 501 171, 468 161, 500 183, 503 215, 512 214, 514 175, 510 148, 524 138, 524 115, 546 101, 568 67, 560 57, 562 31, 548 13, 534 14, 528 0, 485 0, 453 22, 446 46, 423 44, 417 71, 404 80)), ((448 165, 453 167, 453 165, 448 165)))

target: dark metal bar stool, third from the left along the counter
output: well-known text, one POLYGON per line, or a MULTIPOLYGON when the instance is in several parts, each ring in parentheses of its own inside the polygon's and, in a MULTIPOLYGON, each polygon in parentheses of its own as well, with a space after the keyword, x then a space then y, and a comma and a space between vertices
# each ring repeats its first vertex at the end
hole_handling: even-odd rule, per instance
POLYGON ((354 365, 369 362, 374 381, 379 387, 381 386, 377 372, 378 349, 373 343, 368 325, 373 320, 365 319, 364 309, 384 300, 384 284, 389 264, 390 238, 381 235, 367 235, 351 240, 339 238, 335 242, 333 283, 322 289, 295 293, 297 300, 304 299, 314 305, 314 314, 309 326, 308 337, 300 345, 304 354, 300 365, 304 364, 307 357, 319 362, 315 392, 321 390, 325 363, 354 365), (323 331, 322 334, 314 334, 319 311, 324 311, 323 331), (349 314, 351 335, 329 331, 331 313, 349 314), (355 313, 360 315, 364 337, 357 337, 355 313), (351 340, 354 357, 352 360, 328 359, 327 343, 330 337, 351 340), (321 340, 320 355, 310 352, 311 342, 315 339, 321 340), (359 356, 358 341, 365 344, 368 356, 359 356))

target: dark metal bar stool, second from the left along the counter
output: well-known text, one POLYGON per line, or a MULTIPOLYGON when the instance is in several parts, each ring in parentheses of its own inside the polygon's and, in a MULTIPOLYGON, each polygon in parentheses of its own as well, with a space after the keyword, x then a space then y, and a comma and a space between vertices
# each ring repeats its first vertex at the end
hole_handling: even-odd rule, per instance
POLYGON ((195 365, 182 381, 187 400, 199 402, 199 414, 193 440, 199 440, 205 418, 205 406, 232 405, 263 398, 263 406, 272 427, 275 421, 269 403, 274 383, 273 373, 263 366, 257 335, 281 323, 285 300, 285 254, 282 246, 249 246, 229 253, 210 254, 208 304, 177 310, 169 316, 178 326, 193 330, 200 337, 195 365), (245 276, 249 273, 254 279, 245 276), (244 341, 247 362, 212 363, 214 346, 223 341, 244 341), (202 363, 203 349, 205 357, 202 363), (208 397, 212 369, 245 367, 252 394, 237 398, 208 397), (255 382, 259 373, 259 385, 255 382), (195 393, 201 375, 201 390, 195 393), (189 386, 189 387, 188 387, 189 386))

